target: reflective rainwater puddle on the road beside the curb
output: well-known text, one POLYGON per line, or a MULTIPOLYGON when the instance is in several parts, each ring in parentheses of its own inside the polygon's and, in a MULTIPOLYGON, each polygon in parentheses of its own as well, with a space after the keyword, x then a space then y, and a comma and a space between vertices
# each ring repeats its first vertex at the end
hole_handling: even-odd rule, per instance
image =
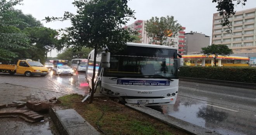
POLYGON ((150 108, 223 135, 253 135, 256 132, 252 124, 255 120, 250 116, 207 104, 211 103, 178 96, 175 105, 150 108))

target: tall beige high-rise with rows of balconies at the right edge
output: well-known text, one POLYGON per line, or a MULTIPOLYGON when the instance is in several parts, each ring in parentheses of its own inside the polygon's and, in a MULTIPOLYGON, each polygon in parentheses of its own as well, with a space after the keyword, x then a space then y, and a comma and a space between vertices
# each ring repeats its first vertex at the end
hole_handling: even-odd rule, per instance
MULTIPOLYGON (((234 54, 256 52, 256 8, 242 10, 230 16, 232 33, 225 32, 220 20, 222 16, 213 14, 212 44, 225 44, 234 54)), ((247 56, 248 57, 248 56, 247 56)))

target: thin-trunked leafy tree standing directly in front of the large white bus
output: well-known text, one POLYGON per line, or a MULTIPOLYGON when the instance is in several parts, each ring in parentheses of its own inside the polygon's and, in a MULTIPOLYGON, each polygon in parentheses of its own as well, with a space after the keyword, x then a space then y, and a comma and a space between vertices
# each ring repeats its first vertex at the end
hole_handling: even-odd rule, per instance
POLYGON ((80 50, 82 47, 95 49, 94 68, 92 76, 92 89, 90 103, 93 101, 95 91, 95 67, 97 50, 105 46, 118 51, 131 42, 132 32, 122 28, 130 18, 134 17, 134 11, 128 8, 127 0, 74 0, 72 3, 77 8, 77 14, 65 12, 63 17, 45 17, 46 22, 53 20, 70 20, 71 27, 63 29, 62 43, 64 46, 72 46, 80 50))

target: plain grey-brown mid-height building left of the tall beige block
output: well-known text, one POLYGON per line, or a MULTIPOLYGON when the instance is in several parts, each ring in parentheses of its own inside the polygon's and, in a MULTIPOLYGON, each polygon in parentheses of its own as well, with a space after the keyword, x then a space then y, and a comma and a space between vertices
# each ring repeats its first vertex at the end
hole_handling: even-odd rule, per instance
POLYGON ((210 36, 197 33, 197 32, 190 32, 185 33, 185 44, 184 44, 184 54, 200 54, 202 51, 202 47, 207 47, 210 45, 210 36))

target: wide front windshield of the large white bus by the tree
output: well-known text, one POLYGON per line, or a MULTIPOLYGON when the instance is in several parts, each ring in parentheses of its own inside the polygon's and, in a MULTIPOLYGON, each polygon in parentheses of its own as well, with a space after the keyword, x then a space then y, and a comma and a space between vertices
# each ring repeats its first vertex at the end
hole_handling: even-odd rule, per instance
POLYGON ((104 76, 131 78, 178 78, 178 60, 159 57, 111 56, 104 76))

